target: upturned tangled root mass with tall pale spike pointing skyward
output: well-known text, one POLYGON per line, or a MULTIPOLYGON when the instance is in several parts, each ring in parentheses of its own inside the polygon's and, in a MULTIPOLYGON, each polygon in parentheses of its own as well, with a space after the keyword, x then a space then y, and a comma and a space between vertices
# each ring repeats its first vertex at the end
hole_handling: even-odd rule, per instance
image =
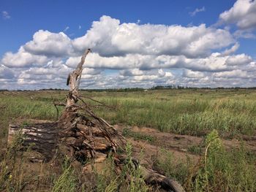
POLYGON ((62 147, 61 153, 78 161, 97 158, 97 154, 102 156, 99 154, 100 151, 116 150, 115 137, 121 138, 118 131, 105 120, 97 117, 89 105, 81 99, 82 96, 78 95, 83 64, 86 55, 90 52, 90 49, 86 50, 76 69, 67 78, 69 85, 67 104, 58 121, 58 127, 62 130, 59 134, 59 145, 65 146, 62 147))

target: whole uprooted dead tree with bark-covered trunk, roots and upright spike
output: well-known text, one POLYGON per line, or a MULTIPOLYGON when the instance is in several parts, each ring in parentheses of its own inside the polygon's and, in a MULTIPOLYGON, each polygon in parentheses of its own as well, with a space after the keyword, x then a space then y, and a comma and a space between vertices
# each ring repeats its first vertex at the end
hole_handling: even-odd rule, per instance
MULTIPOLYGON (((120 172, 127 157, 117 154, 116 151, 124 149, 126 139, 113 126, 95 115, 88 102, 84 101, 84 96, 78 93, 83 64, 90 52, 90 49, 86 50, 76 69, 67 78, 67 103, 54 102, 55 106, 64 106, 59 120, 55 123, 37 123, 33 126, 10 125, 8 141, 11 142, 13 135, 21 128, 25 135, 23 145, 34 143, 32 149, 40 154, 40 157, 34 157, 34 161, 50 161, 58 149, 59 153, 80 164, 88 162, 89 159, 101 164, 111 153, 116 172, 120 172)), ((57 107, 56 109, 58 111, 57 107)), ((132 162, 138 167, 138 160, 134 158, 132 162)), ((184 191, 175 180, 145 166, 140 166, 140 169, 147 185, 158 185, 165 191, 184 191)))

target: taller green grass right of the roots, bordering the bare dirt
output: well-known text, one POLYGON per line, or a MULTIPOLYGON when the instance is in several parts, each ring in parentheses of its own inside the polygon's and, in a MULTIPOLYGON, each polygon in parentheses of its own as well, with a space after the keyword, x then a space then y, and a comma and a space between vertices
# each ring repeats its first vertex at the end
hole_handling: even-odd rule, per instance
POLYGON ((149 126, 160 131, 195 136, 217 129, 221 134, 255 133, 256 104, 240 100, 172 100, 102 99, 117 105, 116 112, 99 111, 112 123, 149 126))

